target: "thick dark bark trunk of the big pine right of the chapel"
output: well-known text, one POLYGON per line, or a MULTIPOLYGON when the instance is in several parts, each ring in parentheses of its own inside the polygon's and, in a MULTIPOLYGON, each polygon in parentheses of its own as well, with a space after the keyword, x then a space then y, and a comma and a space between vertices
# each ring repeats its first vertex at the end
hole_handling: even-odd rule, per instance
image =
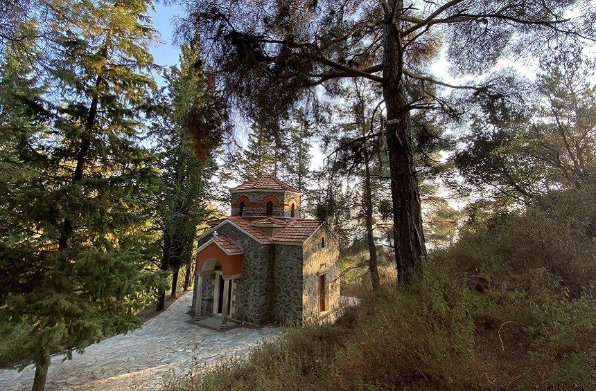
POLYGON ((383 98, 387 110, 387 149, 391 171, 393 230, 396 269, 400 282, 409 282, 426 260, 422 211, 414 149, 410 133, 410 109, 403 87, 403 47, 401 29, 394 15, 403 1, 392 1, 396 12, 385 10, 383 31, 383 98))

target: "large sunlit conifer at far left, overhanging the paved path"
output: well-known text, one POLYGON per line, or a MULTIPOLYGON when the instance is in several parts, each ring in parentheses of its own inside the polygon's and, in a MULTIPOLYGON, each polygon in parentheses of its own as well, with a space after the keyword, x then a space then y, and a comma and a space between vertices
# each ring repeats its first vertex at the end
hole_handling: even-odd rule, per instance
POLYGON ((135 327, 163 280, 146 269, 157 177, 139 145, 154 87, 149 6, 78 4, 52 32, 47 91, 26 57, 8 50, 2 65, 0 363, 35 363, 33 390, 51 354, 135 327))

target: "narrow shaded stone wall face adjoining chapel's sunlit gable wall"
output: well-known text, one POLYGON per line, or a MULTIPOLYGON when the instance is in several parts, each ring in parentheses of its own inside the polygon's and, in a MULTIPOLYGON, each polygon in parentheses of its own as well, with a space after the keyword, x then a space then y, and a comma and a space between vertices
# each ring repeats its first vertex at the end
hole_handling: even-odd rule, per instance
POLYGON ((302 322, 302 248, 275 245, 271 316, 275 322, 302 322))

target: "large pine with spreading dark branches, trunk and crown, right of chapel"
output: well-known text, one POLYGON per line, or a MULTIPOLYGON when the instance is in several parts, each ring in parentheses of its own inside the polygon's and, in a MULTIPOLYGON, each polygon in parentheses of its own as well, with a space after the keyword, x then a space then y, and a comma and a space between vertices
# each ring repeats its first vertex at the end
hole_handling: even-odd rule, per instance
POLYGON ((184 28, 202 35, 211 54, 208 64, 247 113, 265 109, 268 118, 283 120, 299 105, 316 112, 319 97, 341 98, 342 87, 353 78, 383 93, 400 282, 421 271, 427 255, 411 117, 438 112, 459 119, 478 100, 498 104, 512 92, 502 82, 507 75, 496 67, 498 60, 532 57, 554 42, 596 37, 595 7, 575 0, 185 3, 184 28), (441 46, 454 75, 475 80, 451 84, 435 77, 430 65, 441 46), (498 77, 474 78, 489 70, 498 77), (460 93, 441 93, 444 89, 467 93, 462 99, 460 93))

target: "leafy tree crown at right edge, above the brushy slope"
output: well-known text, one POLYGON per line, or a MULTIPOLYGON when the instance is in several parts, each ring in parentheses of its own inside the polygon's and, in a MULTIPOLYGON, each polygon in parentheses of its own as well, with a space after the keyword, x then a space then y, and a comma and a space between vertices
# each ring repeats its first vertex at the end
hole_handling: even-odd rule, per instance
POLYGON ((594 62, 575 46, 543 56, 527 98, 484 107, 455 163, 468 183, 501 205, 595 183, 594 62))

